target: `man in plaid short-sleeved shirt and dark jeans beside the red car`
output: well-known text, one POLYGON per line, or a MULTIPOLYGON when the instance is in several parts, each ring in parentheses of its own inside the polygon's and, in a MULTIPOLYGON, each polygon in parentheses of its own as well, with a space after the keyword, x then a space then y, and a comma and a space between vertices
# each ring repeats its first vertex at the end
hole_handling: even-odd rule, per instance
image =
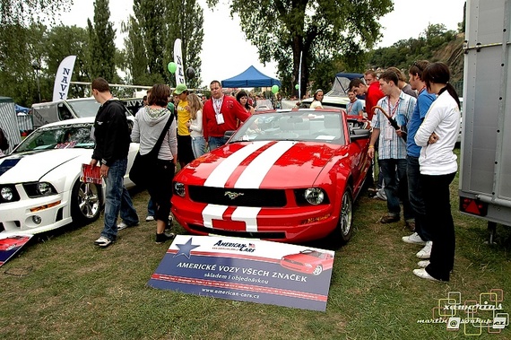
POLYGON ((397 74, 386 71, 380 75, 379 83, 385 97, 378 101, 378 106, 394 118, 401 129, 396 131, 390 125, 384 113, 377 109, 373 118, 373 132, 368 149, 369 158, 375 156, 375 143, 379 141, 378 163, 385 181, 385 194, 388 214, 380 219, 382 223, 400 220, 403 201, 403 215, 406 222, 413 222, 413 213, 408 200, 406 179, 406 143, 403 140, 404 127, 411 118, 416 99, 402 92, 397 86, 397 74), (397 171, 397 176, 396 176, 397 171))

